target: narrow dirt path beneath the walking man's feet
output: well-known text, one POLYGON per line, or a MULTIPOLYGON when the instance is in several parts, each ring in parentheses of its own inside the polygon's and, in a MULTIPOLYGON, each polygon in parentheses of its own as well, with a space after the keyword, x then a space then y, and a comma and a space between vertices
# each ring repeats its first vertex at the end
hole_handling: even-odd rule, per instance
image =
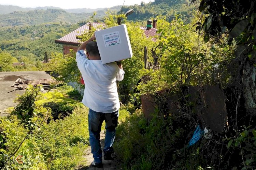
POLYGON ((104 160, 104 153, 103 153, 104 139, 105 139, 105 133, 104 133, 104 130, 101 130, 100 145, 101 145, 101 150, 102 150, 103 167, 95 168, 95 167, 90 166, 91 162, 93 161, 93 154, 91 153, 91 147, 89 146, 85 151, 85 155, 83 156, 87 160, 86 166, 80 167, 78 170, 121 170, 122 169, 120 166, 118 166, 118 163, 116 162, 115 157, 114 157, 114 160, 104 160))

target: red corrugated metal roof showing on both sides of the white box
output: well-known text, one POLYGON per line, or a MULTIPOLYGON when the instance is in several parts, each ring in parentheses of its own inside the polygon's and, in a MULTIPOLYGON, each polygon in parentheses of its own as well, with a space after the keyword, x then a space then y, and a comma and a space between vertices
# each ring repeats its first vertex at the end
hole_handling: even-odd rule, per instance
MULTIPOLYGON (((104 23, 98 23, 98 22, 92 22, 92 27, 101 30, 102 28, 106 27, 104 23)), ((140 27, 140 29, 144 30, 144 34, 146 37, 157 35, 157 29, 151 28, 150 30, 147 30, 147 27, 140 27)), ((89 30, 89 22, 82 27, 72 31, 71 33, 59 38, 58 40, 55 40, 55 43, 61 43, 61 44, 71 44, 71 45, 79 45, 81 41, 76 38, 77 35, 82 35, 86 30, 89 30)), ((156 42, 156 38, 152 37, 152 41, 156 42)))

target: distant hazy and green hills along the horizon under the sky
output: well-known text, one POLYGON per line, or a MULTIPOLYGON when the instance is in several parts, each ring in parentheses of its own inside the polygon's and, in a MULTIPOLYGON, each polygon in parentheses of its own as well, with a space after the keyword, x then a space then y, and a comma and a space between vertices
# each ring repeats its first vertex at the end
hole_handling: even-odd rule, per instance
MULTIPOLYGON (((182 18, 186 23, 191 21, 191 14, 195 6, 189 5, 189 0, 156 0, 150 3, 141 2, 140 5, 124 6, 122 13, 129 9, 133 9, 134 13, 128 16, 128 20, 133 21, 146 21, 152 17, 161 16, 166 17, 171 21, 177 15, 182 18)), ((0 5, 0 10, 4 9, 4 5, 0 5)), ((113 6, 111 8, 98 8, 98 9, 49 9, 50 7, 38 7, 32 11, 30 8, 20 8, 18 6, 6 6, 11 13, 0 15, 0 27, 5 26, 18 26, 18 25, 39 25, 45 22, 65 22, 76 23, 78 21, 87 22, 89 18, 96 11, 94 20, 102 20, 106 15, 106 11, 121 12, 121 6, 113 6), (15 11, 14 11, 15 10, 15 11), (13 12, 14 11, 14 12, 13 12), (23 12, 22 12, 23 11, 23 12), (25 11, 25 12, 24 12, 25 11)), ((8 11, 2 10, 2 13, 8 11)))

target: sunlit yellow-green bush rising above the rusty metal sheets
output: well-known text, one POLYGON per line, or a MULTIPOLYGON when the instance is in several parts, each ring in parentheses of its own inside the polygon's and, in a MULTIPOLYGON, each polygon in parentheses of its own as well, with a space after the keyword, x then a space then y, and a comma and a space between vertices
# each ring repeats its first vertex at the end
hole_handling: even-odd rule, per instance
POLYGON ((234 58, 235 49, 234 45, 228 45, 226 35, 219 43, 211 40, 205 44, 203 37, 193 31, 193 24, 184 25, 181 19, 171 23, 159 20, 159 25, 161 35, 156 48, 159 68, 144 71, 147 79, 138 86, 141 94, 155 94, 168 88, 179 90, 186 85, 226 86, 230 75, 225 65, 234 58))

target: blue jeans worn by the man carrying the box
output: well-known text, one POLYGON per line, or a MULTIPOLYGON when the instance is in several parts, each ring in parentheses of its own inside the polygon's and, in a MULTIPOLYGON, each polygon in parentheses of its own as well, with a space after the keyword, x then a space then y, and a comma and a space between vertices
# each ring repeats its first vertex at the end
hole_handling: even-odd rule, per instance
POLYGON ((101 146, 100 146, 100 131, 102 122, 105 120, 106 135, 105 135, 105 146, 103 152, 113 153, 112 145, 115 140, 117 120, 119 116, 119 110, 113 113, 101 113, 89 109, 88 122, 89 122, 89 142, 91 145, 91 153, 95 163, 102 162, 101 146))

